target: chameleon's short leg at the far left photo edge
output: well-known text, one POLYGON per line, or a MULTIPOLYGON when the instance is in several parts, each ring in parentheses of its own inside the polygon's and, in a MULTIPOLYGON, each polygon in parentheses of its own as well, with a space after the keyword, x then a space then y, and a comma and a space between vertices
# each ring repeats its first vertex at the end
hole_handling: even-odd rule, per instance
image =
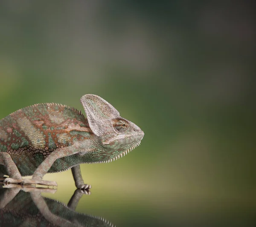
POLYGON ((22 181, 20 172, 8 153, 0 152, 0 165, 5 166, 6 175, 9 176, 3 181, 4 184, 18 184, 22 181))

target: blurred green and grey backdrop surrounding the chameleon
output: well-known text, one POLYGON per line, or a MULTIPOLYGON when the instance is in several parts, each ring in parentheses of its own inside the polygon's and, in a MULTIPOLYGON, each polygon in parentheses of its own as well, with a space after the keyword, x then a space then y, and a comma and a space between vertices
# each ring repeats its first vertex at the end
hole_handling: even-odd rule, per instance
MULTIPOLYGON (((82 165, 77 211, 117 227, 254 226, 254 1, 1 1, 0 118, 92 93, 145 132, 82 165)), ((71 171, 47 174, 67 203, 71 171)))

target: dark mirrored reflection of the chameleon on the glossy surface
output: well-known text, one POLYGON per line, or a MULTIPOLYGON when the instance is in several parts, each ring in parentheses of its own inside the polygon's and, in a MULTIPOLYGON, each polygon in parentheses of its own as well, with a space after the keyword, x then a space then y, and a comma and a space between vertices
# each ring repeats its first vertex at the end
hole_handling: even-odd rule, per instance
POLYGON ((76 212, 77 204, 83 195, 81 190, 75 190, 68 204, 41 195, 54 193, 49 190, 53 189, 0 188, 0 226, 114 227, 114 224, 105 218, 76 212))

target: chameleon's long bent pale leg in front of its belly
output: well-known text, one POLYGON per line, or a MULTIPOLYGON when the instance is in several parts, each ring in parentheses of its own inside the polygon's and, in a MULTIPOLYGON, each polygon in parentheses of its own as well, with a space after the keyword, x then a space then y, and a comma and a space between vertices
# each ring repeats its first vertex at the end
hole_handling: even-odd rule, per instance
POLYGON ((32 179, 24 179, 21 184, 41 184, 47 186, 57 186, 56 181, 44 181, 42 180, 42 178, 58 158, 74 155, 78 152, 79 144, 56 149, 54 152, 48 155, 48 157, 38 166, 32 176, 32 179))

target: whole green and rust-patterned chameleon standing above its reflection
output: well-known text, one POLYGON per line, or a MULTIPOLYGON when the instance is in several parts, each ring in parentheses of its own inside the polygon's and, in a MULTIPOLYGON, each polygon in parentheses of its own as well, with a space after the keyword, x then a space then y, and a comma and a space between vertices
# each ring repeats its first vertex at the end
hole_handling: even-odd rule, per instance
POLYGON ((28 106, 0 120, 0 176, 4 184, 41 184, 47 172, 71 168, 76 187, 84 184, 79 164, 117 160, 140 145, 144 132, 97 95, 80 99, 86 117, 56 103, 28 106), (31 179, 22 176, 32 175, 31 179))

